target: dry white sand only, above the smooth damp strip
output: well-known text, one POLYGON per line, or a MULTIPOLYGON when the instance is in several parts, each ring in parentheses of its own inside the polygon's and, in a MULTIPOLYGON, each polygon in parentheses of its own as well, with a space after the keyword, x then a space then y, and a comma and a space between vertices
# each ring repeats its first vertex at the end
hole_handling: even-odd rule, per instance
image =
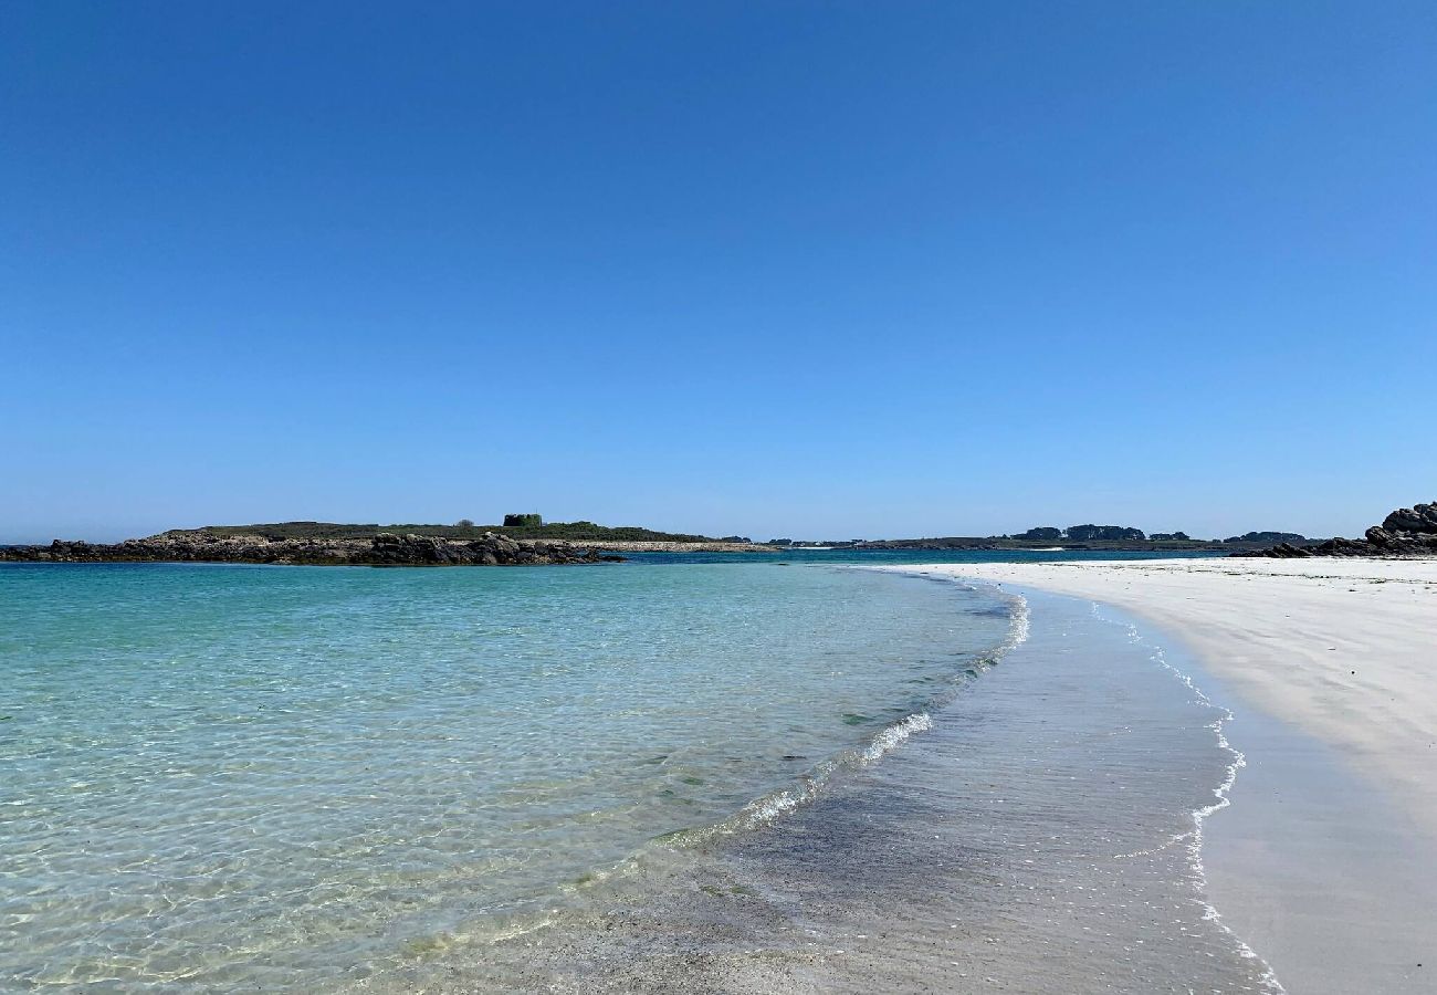
POLYGON ((877 567, 1109 604, 1252 705, 1349 753, 1437 840, 1437 561, 1148 559, 877 567))

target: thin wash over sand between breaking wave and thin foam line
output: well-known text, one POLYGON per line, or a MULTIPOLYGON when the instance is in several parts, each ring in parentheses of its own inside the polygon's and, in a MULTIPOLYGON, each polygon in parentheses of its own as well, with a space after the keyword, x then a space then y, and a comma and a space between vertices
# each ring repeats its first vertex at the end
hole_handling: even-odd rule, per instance
POLYGON ((931 729, 810 804, 650 850, 547 929, 366 988, 1279 995, 1204 881, 1229 713, 1115 613, 1029 610, 931 729))

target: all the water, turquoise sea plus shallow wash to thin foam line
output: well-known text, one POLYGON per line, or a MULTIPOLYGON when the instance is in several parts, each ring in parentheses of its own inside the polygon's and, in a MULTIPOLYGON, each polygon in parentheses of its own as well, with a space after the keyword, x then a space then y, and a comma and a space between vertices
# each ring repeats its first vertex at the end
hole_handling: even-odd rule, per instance
POLYGON ((1260 991, 1217 709, 1086 608, 805 556, 0 567, 0 989, 961 991, 1006 942, 1260 991))

